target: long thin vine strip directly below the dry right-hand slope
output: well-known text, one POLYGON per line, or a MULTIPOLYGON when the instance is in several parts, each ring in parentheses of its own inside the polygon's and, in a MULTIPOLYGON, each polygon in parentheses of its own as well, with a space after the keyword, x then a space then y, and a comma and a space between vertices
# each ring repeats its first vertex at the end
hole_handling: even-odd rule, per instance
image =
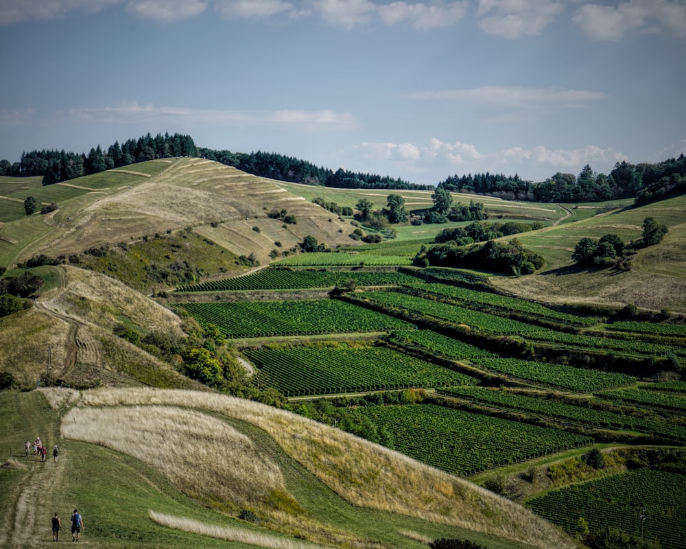
POLYGON ((517 313, 573 326, 591 326, 598 324, 598 320, 595 318, 559 312, 555 309, 545 307, 540 303, 534 303, 533 301, 526 301, 525 299, 518 299, 516 297, 482 292, 480 290, 471 290, 469 288, 461 288, 450 284, 432 283, 419 286, 414 280, 410 281, 408 286, 421 290, 421 292, 425 294, 436 294, 448 297, 469 308, 479 308, 486 305, 489 309, 495 309, 495 314, 500 314, 499 312, 501 312, 501 314, 517 313))

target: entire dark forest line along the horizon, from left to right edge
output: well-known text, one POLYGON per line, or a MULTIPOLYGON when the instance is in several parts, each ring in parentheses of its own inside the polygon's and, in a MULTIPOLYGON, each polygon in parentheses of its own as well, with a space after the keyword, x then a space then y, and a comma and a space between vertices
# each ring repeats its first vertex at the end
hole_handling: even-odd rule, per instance
MULTIPOLYGON (((121 145, 115 142, 107 150, 91 148, 86 154, 58 150, 24 152, 19 162, 0 160, 0 175, 43 176, 43 184, 95 174, 112 167, 120 167, 146 160, 169 156, 199 156, 239 170, 292 183, 338 187, 344 189, 419 189, 435 190, 434 185, 419 185, 400 178, 351 172, 339 168, 314 165, 274 152, 231 152, 196 147, 189 135, 150 133, 139 139, 129 139, 121 145)), ((617 162, 609 174, 593 172, 585 165, 578 175, 557 172, 545 181, 534 183, 519 175, 467 174, 449 176, 438 188, 496 196, 507 200, 531 202, 600 202, 636 198, 637 204, 661 200, 686 191, 686 158, 650 164, 617 162)))

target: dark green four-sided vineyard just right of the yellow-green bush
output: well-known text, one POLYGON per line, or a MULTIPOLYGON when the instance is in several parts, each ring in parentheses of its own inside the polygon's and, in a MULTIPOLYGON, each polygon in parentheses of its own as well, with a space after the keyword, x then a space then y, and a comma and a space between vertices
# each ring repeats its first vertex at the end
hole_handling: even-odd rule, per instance
POLYGON ((386 347, 244 351, 286 396, 475 384, 476 379, 386 347))

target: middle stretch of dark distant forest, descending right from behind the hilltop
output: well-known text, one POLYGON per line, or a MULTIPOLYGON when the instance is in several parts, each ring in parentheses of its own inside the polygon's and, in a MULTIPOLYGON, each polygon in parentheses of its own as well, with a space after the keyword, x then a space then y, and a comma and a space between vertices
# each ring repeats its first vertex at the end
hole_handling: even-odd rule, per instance
POLYGON ((268 177, 290 183, 337 187, 340 189, 418 189, 433 190, 434 185, 419 185, 402 179, 394 179, 377 174, 362 174, 339 168, 335 172, 329 168, 316 166, 305 160, 284 156, 275 152, 230 152, 198 148, 198 156, 204 159, 233 166, 248 174, 268 177))

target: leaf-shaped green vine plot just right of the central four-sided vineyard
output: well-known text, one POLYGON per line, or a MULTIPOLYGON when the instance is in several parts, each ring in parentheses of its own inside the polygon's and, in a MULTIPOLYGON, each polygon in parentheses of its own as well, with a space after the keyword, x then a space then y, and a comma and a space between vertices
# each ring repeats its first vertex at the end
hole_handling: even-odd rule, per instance
POLYGON ((474 362, 484 368, 519 379, 554 385, 577 393, 592 393, 597 390, 633 384, 636 381, 635 378, 624 373, 603 372, 518 358, 477 358, 474 362))

